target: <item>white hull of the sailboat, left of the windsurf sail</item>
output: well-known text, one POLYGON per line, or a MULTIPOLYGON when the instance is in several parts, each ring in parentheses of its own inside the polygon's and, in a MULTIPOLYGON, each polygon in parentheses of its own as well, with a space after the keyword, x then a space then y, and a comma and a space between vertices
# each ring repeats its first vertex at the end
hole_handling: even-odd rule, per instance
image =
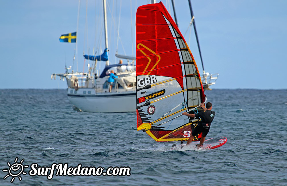
POLYGON ((135 112, 136 111, 136 93, 112 92, 95 93, 94 89, 68 89, 68 100, 82 111, 86 112, 135 112), (73 91, 73 93, 71 93, 73 91), (83 92, 90 91, 90 94, 83 92))

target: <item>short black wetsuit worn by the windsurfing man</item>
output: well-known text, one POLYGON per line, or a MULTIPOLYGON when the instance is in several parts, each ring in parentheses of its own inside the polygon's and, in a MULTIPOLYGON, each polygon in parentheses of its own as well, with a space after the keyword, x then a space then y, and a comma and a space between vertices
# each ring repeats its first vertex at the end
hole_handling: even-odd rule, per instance
POLYGON ((202 132, 202 137, 205 137, 210 129, 211 122, 215 116, 214 111, 206 110, 205 112, 199 112, 194 115, 195 117, 200 117, 201 121, 197 123, 197 126, 193 129, 191 135, 196 136, 202 132))

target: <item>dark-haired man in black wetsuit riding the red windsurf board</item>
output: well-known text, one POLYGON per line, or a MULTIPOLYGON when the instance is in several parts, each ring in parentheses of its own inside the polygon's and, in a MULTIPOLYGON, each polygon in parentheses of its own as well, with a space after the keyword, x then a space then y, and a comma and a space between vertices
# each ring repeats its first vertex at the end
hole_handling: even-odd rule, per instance
POLYGON ((202 132, 202 137, 200 139, 199 145, 196 146, 197 149, 199 149, 200 146, 205 141, 205 136, 208 134, 211 122, 215 116, 215 112, 211 111, 212 104, 210 102, 206 103, 206 105, 205 105, 206 107, 203 105, 203 103, 201 103, 200 106, 204 110, 204 112, 201 111, 197 114, 189 114, 187 112, 182 113, 183 115, 187 115, 188 117, 191 117, 191 118, 194 118, 194 117, 200 117, 201 118, 201 121, 199 121, 197 123, 197 126, 193 129, 191 136, 187 140, 187 144, 186 144, 186 145, 189 145, 191 143, 192 139, 194 138, 194 136, 196 136, 197 134, 202 132))

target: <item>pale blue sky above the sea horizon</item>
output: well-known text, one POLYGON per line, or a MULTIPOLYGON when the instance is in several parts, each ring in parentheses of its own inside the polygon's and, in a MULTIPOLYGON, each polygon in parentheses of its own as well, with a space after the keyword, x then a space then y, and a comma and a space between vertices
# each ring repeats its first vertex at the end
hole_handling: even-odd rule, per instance
MULTIPOLYGON (((162 2, 174 17, 171 1, 162 2)), ((179 29, 202 73, 195 34, 189 26, 188 1, 174 2, 179 29)), ((135 56, 136 9, 149 3, 108 1, 110 64, 119 61, 116 51, 135 56)), ((287 89, 287 1, 191 3, 205 71, 219 74, 211 88, 287 89)), ((104 50, 102 1, 80 1, 73 60, 76 45, 61 43, 59 37, 77 30, 78 4, 78 0, 0 0, 0 89, 66 89, 66 81, 51 80, 51 74, 64 73, 65 65, 74 71, 87 70, 82 54, 98 55, 104 50)), ((103 67, 104 62, 99 62, 99 71, 103 67)))

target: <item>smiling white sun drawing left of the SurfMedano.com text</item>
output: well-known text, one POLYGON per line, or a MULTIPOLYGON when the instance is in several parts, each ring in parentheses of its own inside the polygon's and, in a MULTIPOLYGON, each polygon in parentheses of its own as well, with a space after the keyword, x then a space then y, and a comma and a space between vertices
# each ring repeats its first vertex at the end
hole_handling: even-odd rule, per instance
POLYGON ((9 161, 7 162, 9 169, 3 169, 3 172, 8 172, 8 174, 3 179, 6 179, 9 176, 11 176, 12 178, 10 182, 13 183, 15 177, 19 177, 19 180, 21 181, 22 177, 20 175, 27 174, 26 172, 24 172, 24 169, 28 168, 29 165, 24 166, 22 164, 24 162, 24 159, 22 159, 20 163, 17 163, 17 161, 18 161, 18 157, 15 158, 15 161, 14 161, 15 163, 13 163, 12 165, 9 163, 9 161))

